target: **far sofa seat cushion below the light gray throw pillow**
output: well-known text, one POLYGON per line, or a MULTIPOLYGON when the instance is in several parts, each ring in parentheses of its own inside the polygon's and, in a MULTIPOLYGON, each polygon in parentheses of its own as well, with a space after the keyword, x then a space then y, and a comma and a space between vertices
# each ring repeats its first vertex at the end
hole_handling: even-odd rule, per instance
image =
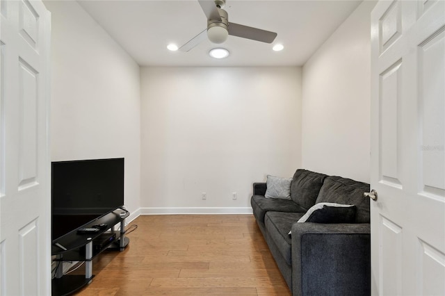
POLYGON ((271 199, 264 197, 264 195, 252 196, 252 199, 250 199, 250 204, 252 205, 253 215, 259 222, 262 223, 264 223, 264 215, 266 215, 268 211, 287 213, 306 212, 304 208, 298 206, 298 204, 290 199, 271 199))

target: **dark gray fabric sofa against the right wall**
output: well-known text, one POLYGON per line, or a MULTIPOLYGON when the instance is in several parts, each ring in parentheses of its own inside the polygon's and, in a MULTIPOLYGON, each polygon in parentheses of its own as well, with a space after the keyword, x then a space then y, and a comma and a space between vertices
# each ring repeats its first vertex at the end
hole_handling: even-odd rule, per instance
POLYGON ((266 198, 266 189, 254 183, 250 202, 292 295, 370 295, 369 184, 297 170, 290 200, 266 198), (355 205, 354 223, 297 223, 320 202, 355 205))

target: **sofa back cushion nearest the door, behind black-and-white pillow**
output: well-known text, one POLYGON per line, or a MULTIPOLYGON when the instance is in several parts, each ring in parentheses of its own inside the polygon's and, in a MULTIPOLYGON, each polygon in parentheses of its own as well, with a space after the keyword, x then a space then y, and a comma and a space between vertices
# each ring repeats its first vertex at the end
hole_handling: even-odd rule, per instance
POLYGON ((369 192, 369 184, 341 178, 341 176, 328 176, 316 199, 319 202, 334 202, 337 204, 353 204, 357 206, 355 223, 369 223, 369 197, 363 193, 369 192))

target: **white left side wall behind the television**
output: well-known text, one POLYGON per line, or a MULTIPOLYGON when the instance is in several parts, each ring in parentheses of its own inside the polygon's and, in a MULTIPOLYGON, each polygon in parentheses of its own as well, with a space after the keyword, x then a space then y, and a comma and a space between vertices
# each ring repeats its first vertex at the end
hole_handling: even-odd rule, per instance
POLYGON ((51 160, 125 158, 125 204, 140 206, 138 65, 76 1, 51 11, 51 160))

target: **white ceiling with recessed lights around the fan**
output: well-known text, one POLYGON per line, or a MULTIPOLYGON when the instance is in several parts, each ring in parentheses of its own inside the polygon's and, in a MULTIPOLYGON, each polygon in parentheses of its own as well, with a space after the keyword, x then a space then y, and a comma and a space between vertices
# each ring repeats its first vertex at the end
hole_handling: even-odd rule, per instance
POLYGON ((304 65, 362 0, 227 0, 229 22, 278 33, 273 44, 284 45, 280 52, 273 44, 234 36, 219 45, 206 40, 189 52, 168 51, 169 43, 180 47, 207 27, 196 0, 78 2, 139 65, 236 67, 304 65), (209 57, 218 46, 230 56, 209 57))

